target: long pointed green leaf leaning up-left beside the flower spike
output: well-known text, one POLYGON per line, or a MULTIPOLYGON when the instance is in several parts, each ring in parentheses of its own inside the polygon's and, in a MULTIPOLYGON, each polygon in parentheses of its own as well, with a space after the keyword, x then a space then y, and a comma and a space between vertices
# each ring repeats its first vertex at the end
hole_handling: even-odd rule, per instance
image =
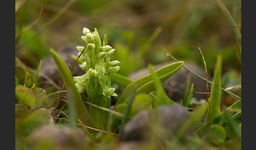
POLYGON ((78 119, 80 119, 84 124, 88 126, 94 126, 91 116, 88 114, 81 95, 75 86, 71 71, 68 69, 61 57, 55 52, 55 50, 50 49, 50 53, 55 60, 58 70, 60 71, 62 79, 67 88, 67 104, 69 109, 68 111, 70 113, 70 123, 72 126, 75 126, 76 117, 78 117, 78 119))

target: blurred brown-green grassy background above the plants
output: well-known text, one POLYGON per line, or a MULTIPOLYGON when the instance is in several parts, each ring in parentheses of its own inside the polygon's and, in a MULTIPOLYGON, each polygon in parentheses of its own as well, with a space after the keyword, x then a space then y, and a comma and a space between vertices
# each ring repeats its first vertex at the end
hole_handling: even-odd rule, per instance
MULTIPOLYGON (((222 2, 241 29, 241 1, 222 2)), ((123 76, 148 63, 173 61, 159 44, 176 59, 203 67, 199 46, 211 75, 216 56, 222 55, 224 88, 241 84, 241 42, 216 1, 16 0, 15 14, 15 55, 33 69, 50 48, 84 46, 82 29, 87 27, 97 28, 101 38, 107 35, 123 76)), ((22 76, 17 77, 21 83, 22 76)))

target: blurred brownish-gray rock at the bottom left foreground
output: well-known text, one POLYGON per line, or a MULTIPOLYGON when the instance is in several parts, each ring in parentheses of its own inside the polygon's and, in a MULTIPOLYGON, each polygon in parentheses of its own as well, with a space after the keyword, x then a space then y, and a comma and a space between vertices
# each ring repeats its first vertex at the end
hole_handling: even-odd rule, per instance
POLYGON ((60 125, 45 125, 29 135, 29 145, 32 149, 51 147, 51 149, 83 149, 85 134, 78 128, 60 125))

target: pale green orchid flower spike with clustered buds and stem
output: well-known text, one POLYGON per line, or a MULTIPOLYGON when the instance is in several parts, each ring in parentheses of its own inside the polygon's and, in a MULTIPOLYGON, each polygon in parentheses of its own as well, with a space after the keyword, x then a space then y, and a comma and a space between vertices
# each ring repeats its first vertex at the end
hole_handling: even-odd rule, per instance
MULTIPOLYGON (((110 74, 117 72, 120 67, 120 61, 110 61, 111 54, 115 51, 111 46, 107 45, 106 36, 104 36, 103 44, 97 29, 91 32, 88 28, 83 28, 81 38, 85 41, 86 46, 77 46, 77 53, 80 56, 82 64, 80 67, 86 70, 82 76, 74 77, 75 85, 80 93, 87 92, 88 101, 104 107, 110 108, 111 96, 116 97, 115 88, 111 87, 110 74)), ((100 123, 104 120, 107 112, 91 107, 90 114, 94 122, 100 123)), ((97 124, 102 127, 103 124, 97 124)))

